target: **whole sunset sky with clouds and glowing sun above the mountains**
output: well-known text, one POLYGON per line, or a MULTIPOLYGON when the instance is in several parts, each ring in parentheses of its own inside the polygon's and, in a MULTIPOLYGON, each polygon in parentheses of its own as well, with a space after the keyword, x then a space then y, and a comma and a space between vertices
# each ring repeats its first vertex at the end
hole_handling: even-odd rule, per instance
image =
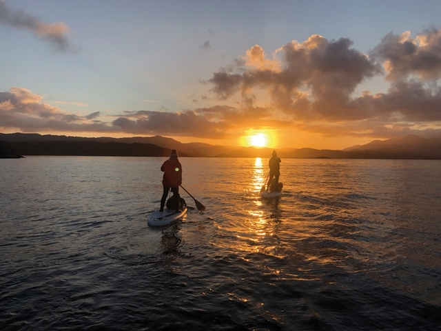
POLYGON ((441 1, 0 0, 0 132, 441 137, 441 1))

